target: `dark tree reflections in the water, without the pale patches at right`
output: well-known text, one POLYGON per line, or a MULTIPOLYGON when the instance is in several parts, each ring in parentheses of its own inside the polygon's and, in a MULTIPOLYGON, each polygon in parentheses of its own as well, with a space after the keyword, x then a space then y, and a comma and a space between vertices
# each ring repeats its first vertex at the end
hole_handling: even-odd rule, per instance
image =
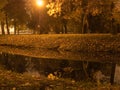
POLYGON ((53 73, 54 75, 59 74, 58 76, 61 78, 71 78, 80 81, 86 79, 92 80, 94 73, 100 71, 105 76, 111 76, 111 83, 114 82, 115 63, 42 59, 6 53, 2 53, 0 57, 0 62, 5 65, 7 69, 19 73, 28 71, 37 72, 37 74, 39 73, 46 76, 53 73))

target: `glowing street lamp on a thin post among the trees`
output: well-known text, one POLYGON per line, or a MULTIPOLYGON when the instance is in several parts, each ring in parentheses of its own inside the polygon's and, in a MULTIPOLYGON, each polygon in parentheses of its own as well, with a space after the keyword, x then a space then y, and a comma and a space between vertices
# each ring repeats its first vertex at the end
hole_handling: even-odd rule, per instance
POLYGON ((38 23, 37 23, 37 28, 39 30, 39 33, 41 33, 40 32, 40 8, 44 5, 43 0, 36 0, 36 5, 37 5, 37 8, 38 8, 38 23))

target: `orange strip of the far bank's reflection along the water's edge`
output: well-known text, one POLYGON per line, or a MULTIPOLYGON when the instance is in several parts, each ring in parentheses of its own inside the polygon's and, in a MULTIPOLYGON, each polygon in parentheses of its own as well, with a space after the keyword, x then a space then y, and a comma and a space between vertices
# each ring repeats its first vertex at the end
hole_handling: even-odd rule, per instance
POLYGON ((119 53, 111 52, 69 52, 69 51, 57 51, 57 50, 46 50, 39 48, 14 48, 14 47, 0 47, 1 52, 7 52, 18 55, 26 55, 30 57, 46 58, 46 59, 57 59, 57 60, 79 60, 79 61, 109 61, 118 62, 120 61, 119 53))

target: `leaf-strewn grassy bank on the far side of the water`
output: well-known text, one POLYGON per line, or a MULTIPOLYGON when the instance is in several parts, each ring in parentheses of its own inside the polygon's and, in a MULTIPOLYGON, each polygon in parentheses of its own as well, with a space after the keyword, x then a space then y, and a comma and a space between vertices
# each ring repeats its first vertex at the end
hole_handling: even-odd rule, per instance
POLYGON ((7 35, 0 36, 0 45, 75 52, 120 52, 120 35, 7 35))

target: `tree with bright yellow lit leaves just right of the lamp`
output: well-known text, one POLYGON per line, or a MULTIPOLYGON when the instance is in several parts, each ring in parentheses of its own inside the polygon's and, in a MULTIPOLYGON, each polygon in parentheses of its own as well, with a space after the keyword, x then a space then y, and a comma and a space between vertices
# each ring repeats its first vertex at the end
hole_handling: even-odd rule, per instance
POLYGON ((61 22, 61 32, 67 33, 67 23, 69 21, 69 14, 73 10, 73 2, 74 0, 49 0, 49 4, 47 5, 48 14, 55 18, 59 18, 61 22))

